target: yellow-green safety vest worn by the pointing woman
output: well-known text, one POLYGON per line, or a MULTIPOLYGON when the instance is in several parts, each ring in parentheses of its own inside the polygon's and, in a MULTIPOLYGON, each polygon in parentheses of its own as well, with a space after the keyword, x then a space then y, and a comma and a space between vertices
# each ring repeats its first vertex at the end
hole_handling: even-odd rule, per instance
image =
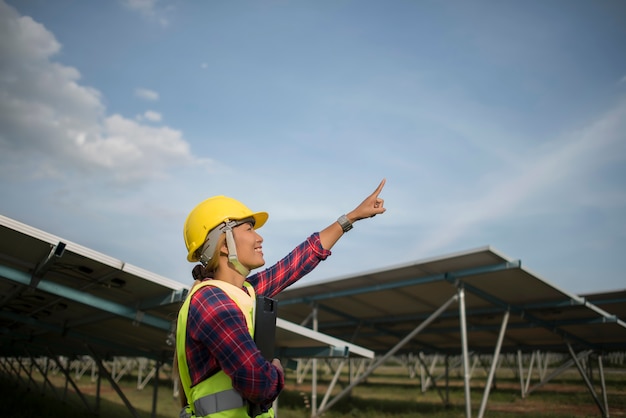
MULTIPOLYGON (((254 337, 254 288, 248 282, 244 286, 248 290, 233 286, 222 280, 205 280, 189 292, 178 313, 178 325, 176 329, 176 355, 178 358, 178 370, 180 380, 187 396, 189 404, 181 411, 180 418, 206 417, 206 418, 242 418, 249 417, 248 402, 233 388, 231 378, 223 370, 191 387, 191 377, 187 356, 185 355, 185 337, 187 332, 187 316, 189 315, 189 303, 192 295, 204 286, 215 286, 222 289, 241 309, 246 318, 248 331, 254 337)), ((255 415, 256 417, 273 418, 274 410, 255 415)))

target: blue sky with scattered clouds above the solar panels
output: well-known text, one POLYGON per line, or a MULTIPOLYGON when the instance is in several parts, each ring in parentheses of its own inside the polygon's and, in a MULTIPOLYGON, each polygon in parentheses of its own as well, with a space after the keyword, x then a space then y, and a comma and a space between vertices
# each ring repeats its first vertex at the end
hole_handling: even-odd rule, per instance
POLYGON ((190 285, 183 224, 269 266, 385 178, 315 283, 489 246, 626 288, 622 0, 0 0, 0 214, 190 285))

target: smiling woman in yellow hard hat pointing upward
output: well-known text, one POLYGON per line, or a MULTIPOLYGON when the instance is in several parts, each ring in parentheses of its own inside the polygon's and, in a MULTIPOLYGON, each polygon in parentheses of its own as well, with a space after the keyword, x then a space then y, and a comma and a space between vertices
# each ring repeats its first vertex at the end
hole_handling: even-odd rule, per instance
POLYGON ((252 275, 265 264, 256 230, 268 214, 225 196, 191 211, 184 228, 187 260, 201 267, 194 268, 196 283, 178 316, 177 363, 188 401, 181 416, 273 416, 270 406, 283 388, 284 373, 280 361, 265 360, 254 343, 255 295, 277 295, 325 260, 354 222, 385 212, 379 197, 384 185, 383 179, 354 210, 252 275), (250 412, 250 405, 262 412, 250 412))

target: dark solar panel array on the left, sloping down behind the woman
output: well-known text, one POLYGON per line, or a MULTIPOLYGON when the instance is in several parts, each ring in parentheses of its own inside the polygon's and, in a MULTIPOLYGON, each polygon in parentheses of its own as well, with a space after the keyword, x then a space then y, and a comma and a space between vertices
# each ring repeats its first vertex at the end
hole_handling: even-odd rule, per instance
MULTIPOLYGON (((170 363, 188 287, 0 215, 0 357, 96 354, 170 363)), ((277 349, 371 350, 279 321, 277 349)))

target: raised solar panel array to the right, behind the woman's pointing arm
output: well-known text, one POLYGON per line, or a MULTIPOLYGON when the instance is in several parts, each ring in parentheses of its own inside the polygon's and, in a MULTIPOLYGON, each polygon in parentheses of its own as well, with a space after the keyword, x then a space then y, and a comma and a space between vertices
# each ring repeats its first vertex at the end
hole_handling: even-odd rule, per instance
POLYGON ((506 311, 503 352, 626 349, 626 292, 577 296, 490 247, 292 287, 279 304, 293 322, 316 306, 320 332, 384 353, 456 298, 402 351, 459 353, 460 289, 471 351, 493 352, 506 311))

